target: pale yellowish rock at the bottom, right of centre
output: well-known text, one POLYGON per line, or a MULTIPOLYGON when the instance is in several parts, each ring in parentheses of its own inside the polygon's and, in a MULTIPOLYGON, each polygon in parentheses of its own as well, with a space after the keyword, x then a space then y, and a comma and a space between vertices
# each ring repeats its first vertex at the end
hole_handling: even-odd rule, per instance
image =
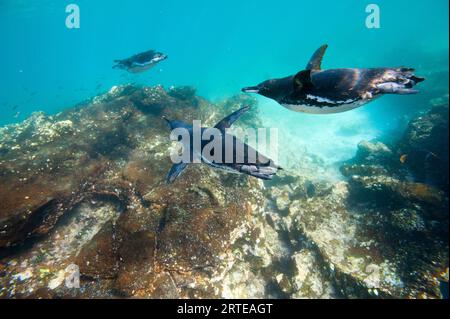
MULTIPOLYGON (((359 223, 347 210, 347 195, 346 184, 340 183, 328 196, 315 201, 294 201, 289 208, 290 214, 286 218, 287 225, 290 225, 289 233, 291 236, 304 236, 310 243, 310 249, 320 257, 311 260, 312 255, 305 251, 300 255, 302 260, 318 264, 315 269, 320 269, 320 272, 315 276, 322 277, 321 283, 301 285, 300 289, 305 289, 303 294, 313 289, 316 295, 328 291, 327 294, 335 297, 367 298, 376 296, 372 289, 383 295, 397 288, 390 284, 388 278, 374 277, 372 274, 371 269, 377 269, 386 276, 395 276, 395 269, 378 257, 379 248, 375 243, 370 239, 358 238, 359 223), (365 253, 355 253, 360 250, 365 253), (327 282, 326 286, 322 286, 327 282)), ((297 276, 302 273, 299 270, 297 276)))

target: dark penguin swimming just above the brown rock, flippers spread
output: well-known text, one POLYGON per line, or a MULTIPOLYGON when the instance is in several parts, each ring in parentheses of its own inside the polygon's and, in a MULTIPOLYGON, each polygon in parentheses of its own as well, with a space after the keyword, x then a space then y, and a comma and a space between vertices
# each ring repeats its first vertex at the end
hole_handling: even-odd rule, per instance
POLYGON ((174 129, 185 129, 189 132, 189 140, 183 141, 180 137, 179 141, 183 143, 183 149, 188 149, 190 154, 189 162, 180 162, 178 164, 173 164, 172 168, 167 175, 166 182, 172 183, 175 179, 183 172, 189 163, 193 162, 193 157, 198 156, 201 163, 205 163, 213 168, 222 169, 232 173, 242 173, 253 177, 257 177, 264 180, 272 179, 272 177, 277 173, 279 166, 275 165, 274 162, 267 158, 266 156, 258 153, 254 148, 247 145, 246 143, 240 141, 235 136, 230 135, 225 132, 242 114, 250 109, 249 106, 243 107, 236 112, 230 114, 221 120, 214 128, 218 134, 211 134, 212 131, 208 128, 201 128, 201 135, 204 137, 211 134, 210 139, 204 140, 198 143, 195 147, 194 143, 194 132, 193 126, 186 124, 182 121, 171 121, 164 118, 170 126, 171 130, 174 129), (208 131, 209 130, 209 131, 208 131), (209 132, 209 134, 208 134, 209 132), (215 138, 219 138, 220 141, 215 141, 215 138), (222 147, 222 154, 217 158, 214 156, 214 151, 205 151, 207 145, 210 143, 220 142, 222 147), (231 155, 231 156, 230 156, 231 155))

